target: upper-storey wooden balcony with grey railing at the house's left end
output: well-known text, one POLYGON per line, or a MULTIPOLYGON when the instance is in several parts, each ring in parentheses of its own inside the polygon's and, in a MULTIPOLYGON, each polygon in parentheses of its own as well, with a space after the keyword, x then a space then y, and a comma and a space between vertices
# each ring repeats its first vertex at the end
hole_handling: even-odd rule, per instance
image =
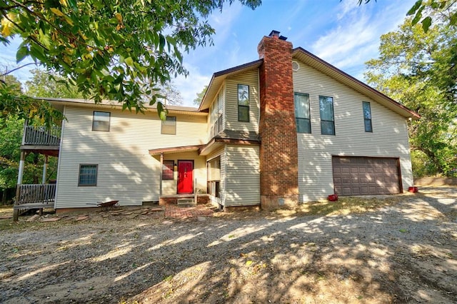
POLYGON ((61 128, 53 126, 24 126, 21 150, 59 156, 61 128))

